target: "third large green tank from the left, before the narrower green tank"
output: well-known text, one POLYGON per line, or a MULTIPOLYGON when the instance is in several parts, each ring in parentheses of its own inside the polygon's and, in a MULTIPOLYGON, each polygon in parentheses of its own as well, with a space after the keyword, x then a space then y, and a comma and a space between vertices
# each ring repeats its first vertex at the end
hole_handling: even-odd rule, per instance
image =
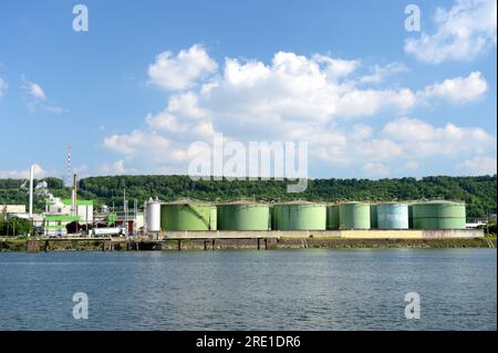
POLYGON ((325 205, 290 203, 274 206, 277 230, 325 230, 325 205))

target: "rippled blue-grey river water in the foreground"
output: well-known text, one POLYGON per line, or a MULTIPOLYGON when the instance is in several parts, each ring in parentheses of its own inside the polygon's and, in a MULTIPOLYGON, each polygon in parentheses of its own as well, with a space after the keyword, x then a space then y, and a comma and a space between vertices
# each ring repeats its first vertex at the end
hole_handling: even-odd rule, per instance
POLYGON ((0 330, 496 329, 496 249, 0 253, 0 330))

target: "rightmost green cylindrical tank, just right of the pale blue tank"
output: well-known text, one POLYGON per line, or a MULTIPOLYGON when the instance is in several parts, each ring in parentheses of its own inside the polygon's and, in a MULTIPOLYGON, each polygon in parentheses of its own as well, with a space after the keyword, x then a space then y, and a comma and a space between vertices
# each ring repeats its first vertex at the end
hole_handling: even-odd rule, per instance
POLYGON ((415 229, 465 229, 464 203, 428 201, 413 205, 415 229))

